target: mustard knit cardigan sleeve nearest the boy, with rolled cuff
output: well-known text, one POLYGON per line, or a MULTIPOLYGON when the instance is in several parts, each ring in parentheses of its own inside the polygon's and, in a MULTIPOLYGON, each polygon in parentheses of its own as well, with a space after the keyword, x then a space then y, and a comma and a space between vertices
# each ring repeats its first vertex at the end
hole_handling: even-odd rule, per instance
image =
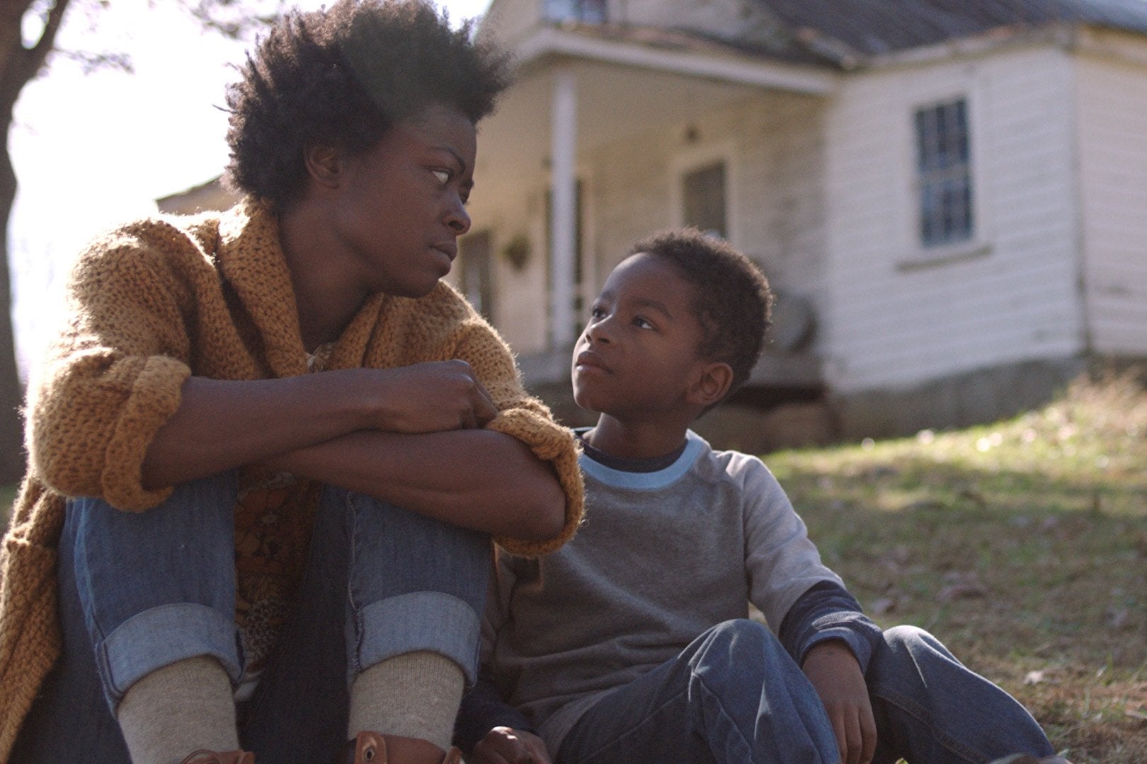
POLYGON ((584 488, 574 434, 554 422, 541 401, 523 391, 509 347, 479 317, 475 316, 460 326, 454 355, 474 368, 499 410, 486 430, 505 433, 529 446, 535 456, 553 465, 565 493, 565 525, 559 535, 546 541, 512 537, 494 541, 507 552, 520 557, 553 552, 574 537, 582 522, 584 488))

